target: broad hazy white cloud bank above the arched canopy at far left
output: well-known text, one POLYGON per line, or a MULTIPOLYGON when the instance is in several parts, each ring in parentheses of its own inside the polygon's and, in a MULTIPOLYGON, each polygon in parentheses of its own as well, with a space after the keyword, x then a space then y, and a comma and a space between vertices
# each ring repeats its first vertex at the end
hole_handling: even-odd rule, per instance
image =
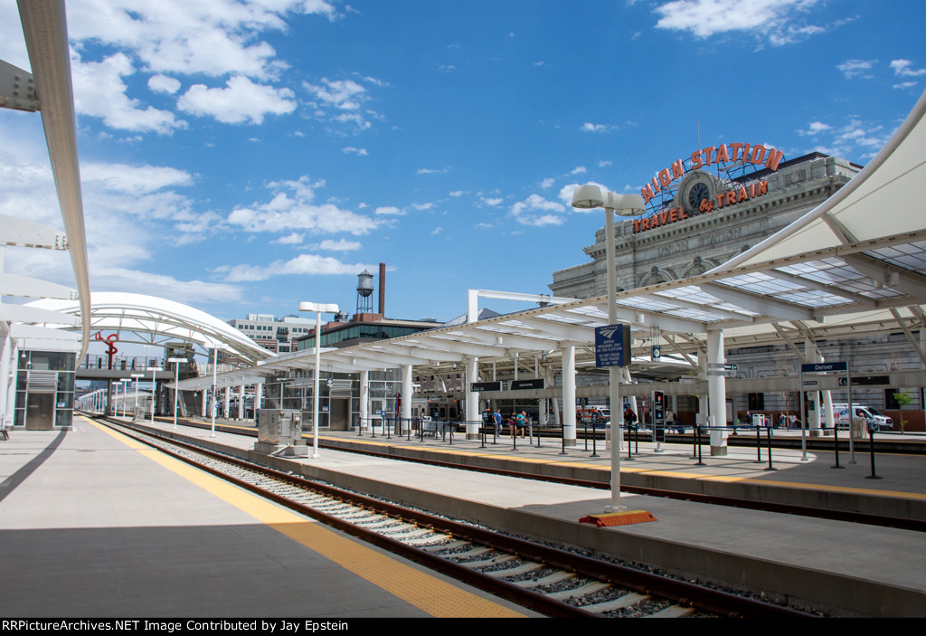
MULTIPOLYGON (((18 143, 16 131, 0 130, 0 136, 7 143, 18 143)), ((0 213, 60 228, 47 156, 33 160, 31 146, 16 147, 26 150, 18 163, 0 165, 0 182, 4 183, 0 189, 0 213)), ((139 265, 165 246, 165 237, 170 237, 171 245, 190 243, 221 227, 220 218, 195 212, 193 201, 174 190, 192 185, 193 175, 167 167, 84 162, 81 176, 84 235, 94 289, 145 289, 167 297, 186 293, 183 281, 148 274, 139 265), (197 227, 201 220, 204 225, 197 227), (149 280, 146 277, 151 286, 139 282, 149 280), (171 284, 175 294, 169 293, 171 284)), ((67 255, 49 250, 7 250, 5 268, 65 285, 73 285, 74 281, 67 255)), ((203 290, 204 297, 214 292, 214 288, 203 290)), ((223 286, 222 292, 215 295, 229 300, 239 293, 223 286)))

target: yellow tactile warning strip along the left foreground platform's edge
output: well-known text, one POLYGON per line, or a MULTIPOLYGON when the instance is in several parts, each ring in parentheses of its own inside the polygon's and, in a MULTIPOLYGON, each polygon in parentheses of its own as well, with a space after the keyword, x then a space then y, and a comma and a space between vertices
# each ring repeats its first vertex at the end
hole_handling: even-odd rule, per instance
POLYGON ((377 552, 362 543, 328 530, 315 521, 307 520, 291 510, 261 499, 256 494, 248 493, 218 477, 167 455, 162 455, 143 443, 135 442, 96 422, 83 419, 157 464, 180 475, 183 479, 192 481, 258 521, 266 523, 274 530, 279 530, 310 550, 434 617, 523 617, 515 610, 462 590, 419 569, 409 567, 389 555, 377 552))

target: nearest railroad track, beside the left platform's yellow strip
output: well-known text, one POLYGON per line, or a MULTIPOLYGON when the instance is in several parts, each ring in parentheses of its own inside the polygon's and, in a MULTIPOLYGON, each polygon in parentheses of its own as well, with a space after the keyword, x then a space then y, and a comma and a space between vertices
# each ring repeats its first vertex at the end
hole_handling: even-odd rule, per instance
POLYGON ((811 616, 351 493, 123 422, 97 421, 307 517, 544 616, 811 616))

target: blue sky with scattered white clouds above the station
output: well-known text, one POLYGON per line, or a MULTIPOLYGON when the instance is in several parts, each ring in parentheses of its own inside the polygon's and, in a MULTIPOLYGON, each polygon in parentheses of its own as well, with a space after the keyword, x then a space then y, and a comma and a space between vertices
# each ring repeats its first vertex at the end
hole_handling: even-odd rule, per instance
MULTIPOLYGON (((91 285, 219 318, 549 293, 601 211, 697 145, 866 163, 926 86, 918 0, 71 0, 91 285)), ((0 58, 29 69, 16 3, 0 58)), ((0 110, 0 212, 59 227, 38 116, 0 110)), ((67 256, 6 271, 71 284, 67 256)), ((518 306, 489 302, 499 310, 518 306)), ((525 308, 521 306, 520 308, 525 308)))

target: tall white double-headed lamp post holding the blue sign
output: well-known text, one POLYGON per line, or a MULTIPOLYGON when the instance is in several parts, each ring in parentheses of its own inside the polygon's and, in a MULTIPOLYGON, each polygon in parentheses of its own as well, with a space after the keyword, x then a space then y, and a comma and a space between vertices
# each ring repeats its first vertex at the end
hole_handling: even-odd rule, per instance
MULTIPOLYGON (((644 209, 643 197, 639 194, 618 194, 610 191, 602 193, 601 188, 588 183, 578 186, 572 193, 572 206, 579 209, 605 208, 605 257, 607 258, 607 322, 613 325, 618 321, 618 281, 614 263, 614 214, 632 217, 644 209)), ((630 352, 628 352, 630 355, 630 352)), ((624 408, 620 398, 620 369, 607 368, 608 401, 611 405, 611 512, 623 512, 627 508, 620 505, 620 449, 622 436, 620 425, 624 419, 624 408)))

